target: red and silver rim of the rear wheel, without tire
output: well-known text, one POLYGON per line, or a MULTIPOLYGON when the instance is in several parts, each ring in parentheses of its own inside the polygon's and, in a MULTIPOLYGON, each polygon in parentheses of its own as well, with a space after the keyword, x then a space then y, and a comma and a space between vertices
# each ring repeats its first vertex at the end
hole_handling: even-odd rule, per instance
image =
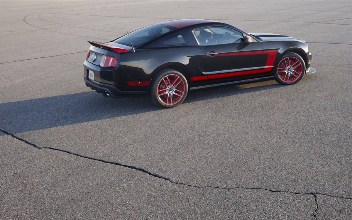
POLYGON ((164 76, 158 83, 157 96, 165 105, 174 105, 184 95, 184 82, 181 77, 170 74, 164 76))

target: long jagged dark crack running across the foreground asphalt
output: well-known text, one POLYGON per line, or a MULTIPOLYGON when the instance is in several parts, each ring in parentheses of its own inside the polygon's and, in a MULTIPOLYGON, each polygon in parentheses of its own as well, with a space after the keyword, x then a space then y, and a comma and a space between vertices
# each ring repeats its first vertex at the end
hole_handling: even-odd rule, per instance
POLYGON ((171 180, 170 178, 167 178, 167 177, 164 177, 164 176, 161 176, 161 175, 158 175, 158 174, 153 174, 152 172, 150 171, 147 171, 143 168, 137 168, 136 166, 131 166, 131 165, 126 165, 126 164, 121 164, 121 163, 117 163, 117 162, 110 162, 110 161, 106 161, 106 160, 103 160, 103 159, 98 159, 98 158, 94 158, 94 157, 89 157, 89 156, 84 156, 84 155, 80 155, 78 153, 74 153, 74 152, 70 152, 70 151, 67 151, 67 150, 63 150, 63 149, 57 149, 57 148, 54 148, 54 147, 40 147, 40 146, 37 146, 36 144, 33 144, 33 143, 30 143, 28 142, 27 140, 25 139, 22 139, 20 137, 17 137, 15 136, 14 134, 10 133, 10 132, 7 132, 5 130, 2 130, 0 128, 0 131, 17 139, 17 140, 20 140, 21 142, 24 142, 36 149, 49 149, 49 150, 55 150, 55 151, 61 151, 61 152, 65 152, 65 153, 68 153, 70 155, 74 155, 74 156, 78 156, 78 157, 82 157, 82 158, 86 158, 86 159, 91 159, 91 160, 94 160, 94 161, 99 161, 99 162, 103 162, 103 163, 107 163, 107 164, 112 164, 112 165, 118 165, 118 166, 123 166, 123 167, 126 167, 126 168, 130 168, 130 169, 133 169, 133 170, 137 170, 137 171, 140 171, 140 172, 144 172, 148 175, 151 175, 153 177, 157 177, 157 178, 160 178, 162 180, 166 180, 166 181, 169 181, 170 183, 173 183, 173 184, 180 184, 180 185, 183 185, 183 186, 188 186, 188 187, 195 187, 195 188, 215 188, 215 189, 225 189, 225 190, 232 190, 232 189, 247 189, 247 190, 264 190, 264 191, 270 191, 271 193, 291 193, 291 194, 296 194, 296 195, 312 195, 314 196, 314 200, 315 200, 315 204, 316 204, 316 208, 314 210, 314 212, 312 213, 314 218, 317 219, 317 215, 318 215, 318 208, 319 208, 319 205, 318 205, 318 195, 323 195, 323 196, 329 196, 329 197, 335 197, 335 198, 341 198, 341 199, 348 199, 348 200, 352 200, 352 197, 351 198, 348 198, 348 197, 343 197, 343 196, 334 196, 334 195, 328 195, 328 194, 324 194, 324 193, 315 193, 315 192, 311 192, 311 193, 299 193, 299 192, 294 192, 294 191, 287 191, 287 190, 272 190, 272 189, 265 189, 265 188, 249 188, 249 187, 232 187, 232 188, 225 188, 225 187, 214 187, 214 186, 196 186, 196 185, 191 185, 191 184, 186 184, 186 183, 182 183, 182 182, 176 182, 176 181, 173 181, 171 180))

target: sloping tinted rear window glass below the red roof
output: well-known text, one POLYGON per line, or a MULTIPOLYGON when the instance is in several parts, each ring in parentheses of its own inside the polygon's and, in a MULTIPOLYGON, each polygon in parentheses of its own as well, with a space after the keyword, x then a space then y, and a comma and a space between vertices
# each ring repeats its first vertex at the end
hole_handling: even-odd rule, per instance
MULTIPOLYGON (((129 33, 133 47, 138 48, 139 46, 142 46, 143 44, 165 34, 170 31, 176 30, 175 27, 171 27, 168 25, 161 25, 161 24, 153 24, 150 26, 143 27, 141 29, 138 29, 136 31, 133 31, 129 33)), ((114 43, 118 44, 124 44, 127 46, 131 46, 130 38, 128 35, 124 35, 116 40, 114 40, 114 43)))

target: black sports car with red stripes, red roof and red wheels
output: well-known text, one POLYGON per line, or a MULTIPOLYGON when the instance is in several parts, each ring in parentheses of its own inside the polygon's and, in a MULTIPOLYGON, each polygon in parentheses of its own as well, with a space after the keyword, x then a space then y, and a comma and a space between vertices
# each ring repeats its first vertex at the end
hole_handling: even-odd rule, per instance
POLYGON ((188 90, 274 79, 289 85, 315 72, 303 40, 212 20, 165 21, 111 42, 88 42, 87 86, 112 98, 149 95, 165 108, 180 104, 188 90))

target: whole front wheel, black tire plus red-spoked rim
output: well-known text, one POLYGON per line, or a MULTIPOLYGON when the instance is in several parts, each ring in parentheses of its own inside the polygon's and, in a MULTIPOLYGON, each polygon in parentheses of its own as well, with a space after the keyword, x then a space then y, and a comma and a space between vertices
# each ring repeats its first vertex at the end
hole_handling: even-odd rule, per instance
POLYGON ((306 73, 306 64, 302 57, 294 52, 283 55, 275 73, 275 80, 283 85, 295 84, 306 73))

